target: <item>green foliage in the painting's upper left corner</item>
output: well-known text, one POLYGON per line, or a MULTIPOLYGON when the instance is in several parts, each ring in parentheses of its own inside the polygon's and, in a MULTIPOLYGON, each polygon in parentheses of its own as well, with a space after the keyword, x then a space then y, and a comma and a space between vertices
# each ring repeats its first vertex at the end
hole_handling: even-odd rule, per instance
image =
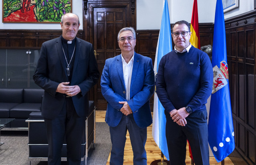
POLYGON ((4 18, 9 16, 12 12, 20 10, 22 0, 4 0, 4 18))

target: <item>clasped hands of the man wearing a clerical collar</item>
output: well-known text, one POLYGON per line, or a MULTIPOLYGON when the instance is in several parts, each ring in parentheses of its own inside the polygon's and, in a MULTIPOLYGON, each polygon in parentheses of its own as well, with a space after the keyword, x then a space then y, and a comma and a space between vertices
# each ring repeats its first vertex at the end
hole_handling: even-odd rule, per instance
POLYGON ((69 82, 61 82, 56 89, 56 92, 65 93, 70 97, 77 95, 80 91, 78 85, 69 86, 69 82))

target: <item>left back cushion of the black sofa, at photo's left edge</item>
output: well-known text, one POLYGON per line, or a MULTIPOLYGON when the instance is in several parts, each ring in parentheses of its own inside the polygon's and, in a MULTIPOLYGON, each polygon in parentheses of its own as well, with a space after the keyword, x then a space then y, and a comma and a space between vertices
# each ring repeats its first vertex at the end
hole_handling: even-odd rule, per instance
POLYGON ((23 89, 0 89, 0 103, 22 103, 23 89))

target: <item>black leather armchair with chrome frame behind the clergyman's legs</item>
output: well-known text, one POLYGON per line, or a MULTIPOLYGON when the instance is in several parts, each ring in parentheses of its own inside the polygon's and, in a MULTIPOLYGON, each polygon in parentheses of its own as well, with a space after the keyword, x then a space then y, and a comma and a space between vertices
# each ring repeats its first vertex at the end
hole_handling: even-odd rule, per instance
MULTIPOLYGON (((85 121, 85 130, 82 141, 81 161, 87 163, 88 151, 91 147, 95 148, 95 106, 93 101, 89 101, 89 115, 85 121)), ((46 127, 41 112, 32 112, 28 122, 28 146, 30 161, 47 161, 48 141, 46 137, 46 127)), ((67 146, 64 141, 61 153, 61 160, 67 160, 67 146)))

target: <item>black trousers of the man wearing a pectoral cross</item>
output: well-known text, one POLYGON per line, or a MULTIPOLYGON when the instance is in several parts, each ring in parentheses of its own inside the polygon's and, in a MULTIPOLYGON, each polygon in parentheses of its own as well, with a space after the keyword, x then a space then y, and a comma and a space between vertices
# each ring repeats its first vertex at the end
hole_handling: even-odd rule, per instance
POLYGON ((66 135, 67 163, 80 165, 81 143, 85 129, 85 117, 79 117, 71 97, 65 99, 64 107, 55 119, 44 119, 48 139, 48 165, 60 165, 61 149, 66 135))

